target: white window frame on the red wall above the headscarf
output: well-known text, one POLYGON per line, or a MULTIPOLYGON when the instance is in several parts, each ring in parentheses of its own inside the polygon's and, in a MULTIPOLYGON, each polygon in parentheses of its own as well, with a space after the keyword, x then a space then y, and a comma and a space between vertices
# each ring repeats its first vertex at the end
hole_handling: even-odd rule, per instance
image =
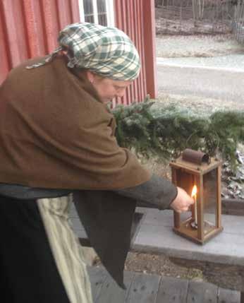
MULTIPOLYGON (((79 11, 80 11, 80 21, 85 22, 85 11, 83 0, 79 0, 79 11)), ((94 14, 94 23, 98 24, 98 15, 97 15, 97 0, 92 0, 93 14, 94 14)), ((106 0, 106 20, 108 26, 114 26, 114 0, 106 0)))

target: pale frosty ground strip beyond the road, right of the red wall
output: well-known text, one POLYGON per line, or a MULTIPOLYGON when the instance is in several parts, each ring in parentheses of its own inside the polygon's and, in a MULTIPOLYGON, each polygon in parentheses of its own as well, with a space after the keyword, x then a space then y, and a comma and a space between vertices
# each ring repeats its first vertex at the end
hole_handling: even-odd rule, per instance
POLYGON ((244 72, 244 45, 232 35, 158 36, 157 61, 169 66, 233 69, 244 72))

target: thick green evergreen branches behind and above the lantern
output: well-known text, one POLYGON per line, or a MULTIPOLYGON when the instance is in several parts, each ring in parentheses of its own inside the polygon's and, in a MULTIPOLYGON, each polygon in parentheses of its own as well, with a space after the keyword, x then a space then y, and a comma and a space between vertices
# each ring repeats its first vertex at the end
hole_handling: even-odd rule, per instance
POLYGON ((221 153, 236 166, 236 146, 244 141, 243 112, 215 112, 198 116, 180 107, 165 107, 161 102, 144 102, 113 109, 117 122, 118 144, 135 152, 169 160, 185 148, 210 155, 221 153))

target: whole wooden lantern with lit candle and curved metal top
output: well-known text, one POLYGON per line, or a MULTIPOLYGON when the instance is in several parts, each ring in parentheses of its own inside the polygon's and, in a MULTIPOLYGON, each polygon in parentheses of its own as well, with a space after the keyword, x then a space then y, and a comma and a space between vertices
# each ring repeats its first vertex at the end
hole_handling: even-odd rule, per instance
POLYGON ((186 213, 173 212, 177 234, 204 244, 219 234, 221 227, 221 161, 209 155, 186 149, 170 163, 172 182, 194 198, 186 213))

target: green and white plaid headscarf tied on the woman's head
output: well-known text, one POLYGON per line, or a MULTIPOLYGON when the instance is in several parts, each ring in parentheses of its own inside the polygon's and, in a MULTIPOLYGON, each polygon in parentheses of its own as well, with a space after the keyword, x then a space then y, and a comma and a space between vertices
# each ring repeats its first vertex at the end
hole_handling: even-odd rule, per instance
POLYGON ((94 23, 74 23, 61 30, 60 47, 43 63, 52 61, 59 51, 67 52, 68 66, 89 69, 100 76, 132 81, 140 73, 140 58, 130 38, 118 28, 94 23))

